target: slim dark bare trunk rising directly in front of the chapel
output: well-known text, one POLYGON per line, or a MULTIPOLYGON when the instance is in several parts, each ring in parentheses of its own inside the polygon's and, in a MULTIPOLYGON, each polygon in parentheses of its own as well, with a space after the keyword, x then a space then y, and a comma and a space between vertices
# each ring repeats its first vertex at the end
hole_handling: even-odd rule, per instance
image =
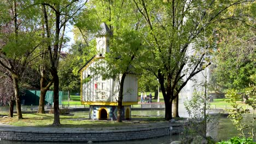
POLYGON ((125 76, 126 76, 126 73, 124 73, 121 77, 120 91, 118 94, 118 116, 117 116, 118 122, 122 122, 122 106, 123 106, 123 91, 124 91, 125 76))

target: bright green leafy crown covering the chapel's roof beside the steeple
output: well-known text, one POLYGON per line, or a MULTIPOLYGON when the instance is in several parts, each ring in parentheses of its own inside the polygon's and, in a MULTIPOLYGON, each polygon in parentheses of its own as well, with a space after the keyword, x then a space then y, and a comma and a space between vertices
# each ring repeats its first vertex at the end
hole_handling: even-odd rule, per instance
POLYGON ((124 29, 117 32, 112 38, 110 52, 106 53, 107 67, 98 67, 98 73, 103 79, 124 73, 135 73, 140 50, 141 39, 136 31, 124 29))

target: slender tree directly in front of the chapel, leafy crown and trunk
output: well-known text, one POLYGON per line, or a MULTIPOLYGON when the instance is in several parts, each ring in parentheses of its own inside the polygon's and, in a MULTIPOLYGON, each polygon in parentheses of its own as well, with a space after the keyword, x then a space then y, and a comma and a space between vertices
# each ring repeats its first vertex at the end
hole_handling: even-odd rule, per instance
POLYGON ((106 54, 107 68, 102 75, 104 77, 115 77, 119 81, 118 94, 118 116, 117 121, 121 122, 121 108, 123 103, 124 80, 127 74, 135 73, 134 65, 138 61, 141 39, 136 31, 123 30, 114 35, 110 44, 110 53, 106 54))

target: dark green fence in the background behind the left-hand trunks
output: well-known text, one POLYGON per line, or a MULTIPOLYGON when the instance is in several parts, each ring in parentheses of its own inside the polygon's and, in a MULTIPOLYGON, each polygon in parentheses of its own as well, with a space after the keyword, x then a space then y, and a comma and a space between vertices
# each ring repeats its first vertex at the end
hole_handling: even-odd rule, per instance
MULTIPOLYGON (((59 91, 59 104, 61 105, 61 101, 65 95, 65 92, 59 91)), ((53 91, 47 91, 45 95, 44 104, 53 104, 53 91)), ((35 90, 25 90, 21 93, 21 104, 22 105, 39 105, 40 99, 40 91, 35 90)))

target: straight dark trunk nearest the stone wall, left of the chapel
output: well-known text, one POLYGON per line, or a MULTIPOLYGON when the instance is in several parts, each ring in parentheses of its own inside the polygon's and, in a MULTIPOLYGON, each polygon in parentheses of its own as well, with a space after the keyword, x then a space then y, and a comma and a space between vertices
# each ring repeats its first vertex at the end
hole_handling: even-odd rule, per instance
POLYGON ((57 69, 51 69, 51 75, 53 76, 54 82, 54 126, 60 125, 60 109, 59 109, 59 76, 57 69))

